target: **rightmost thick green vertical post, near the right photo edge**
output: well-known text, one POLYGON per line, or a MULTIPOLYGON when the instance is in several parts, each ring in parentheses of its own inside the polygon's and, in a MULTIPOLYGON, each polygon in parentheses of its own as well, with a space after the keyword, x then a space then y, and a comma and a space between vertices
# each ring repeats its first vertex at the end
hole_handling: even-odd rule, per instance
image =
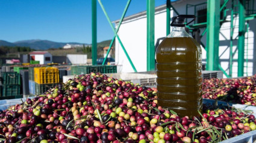
POLYGON ((239 39, 238 39, 238 71, 243 76, 245 62, 245 0, 239 0, 239 39))

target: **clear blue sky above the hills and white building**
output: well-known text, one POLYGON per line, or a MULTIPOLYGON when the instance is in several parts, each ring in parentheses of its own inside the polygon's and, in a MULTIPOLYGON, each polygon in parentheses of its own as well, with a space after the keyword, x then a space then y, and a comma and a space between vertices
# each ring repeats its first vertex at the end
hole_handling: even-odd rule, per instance
MULTIPOLYGON (((101 0, 110 20, 120 19, 126 0, 101 0)), ((166 0, 155 0, 155 6, 166 0)), ((132 0, 126 16, 146 10, 146 0, 132 0)), ((92 43, 91 0, 1 0, 0 40, 51 40, 92 43)), ((113 31, 97 2, 97 41, 113 31)))

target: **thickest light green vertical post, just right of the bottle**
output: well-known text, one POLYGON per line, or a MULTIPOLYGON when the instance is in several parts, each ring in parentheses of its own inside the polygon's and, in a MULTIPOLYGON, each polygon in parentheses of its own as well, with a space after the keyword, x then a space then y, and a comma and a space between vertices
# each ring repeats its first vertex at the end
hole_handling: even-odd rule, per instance
POLYGON ((207 70, 219 70, 220 0, 207 3, 207 70))

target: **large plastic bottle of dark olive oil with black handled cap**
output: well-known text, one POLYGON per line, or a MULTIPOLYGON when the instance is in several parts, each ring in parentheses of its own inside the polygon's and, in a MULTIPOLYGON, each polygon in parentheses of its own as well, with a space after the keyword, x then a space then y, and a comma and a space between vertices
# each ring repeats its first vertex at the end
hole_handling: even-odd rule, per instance
POLYGON ((160 106, 192 118, 202 110, 202 50, 185 31, 186 18, 195 20, 173 17, 172 32, 157 47, 157 90, 160 106))

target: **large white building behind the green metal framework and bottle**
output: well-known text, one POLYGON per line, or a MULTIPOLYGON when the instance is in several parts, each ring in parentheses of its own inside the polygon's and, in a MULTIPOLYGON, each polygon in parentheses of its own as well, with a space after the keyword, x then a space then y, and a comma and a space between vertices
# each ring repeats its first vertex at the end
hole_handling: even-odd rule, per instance
MULTIPOLYGON (((180 14, 186 14, 186 7, 189 4, 196 5, 202 4, 205 0, 180 0, 172 2, 173 7, 180 14)), ((256 2, 255 2, 256 4, 256 2)), ((231 7, 231 1, 228 2, 226 8, 231 7)), ((196 14, 194 13, 194 8, 188 8, 188 14, 200 15, 200 13, 206 14, 207 4, 201 5, 196 8, 196 14), (205 10, 205 12, 204 12, 205 10)), ((173 10, 170 10, 170 17, 176 16, 173 10)), ((230 12, 227 11, 226 21, 230 20, 230 12)), ((137 71, 146 71, 146 40, 147 40, 147 22, 146 22, 146 11, 141 13, 137 13, 123 19, 122 25, 119 28, 118 35, 120 40, 123 43, 128 55, 133 61, 134 66, 137 71)), ((118 26, 119 20, 114 21, 116 27, 118 26)), ((229 72, 229 40, 230 40, 230 25, 231 22, 225 22, 220 25, 220 34, 219 34, 219 57, 220 57, 220 65, 226 71, 229 72)), ((233 34, 233 77, 237 77, 237 41, 238 41, 238 29, 239 29, 239 16, 234 16, 234 34, 233 34)), ((201 29, 204 31, 205 28, 201 29)), ((251 76, 256 73, 256 59, 255 55, 256 50, 256 38, 254 37, 254 33, 256 31, 256 19, 249 20, 249 30, 245 34, 245 69, 244 76, 251 76)), ((166 37, 166 5, 160 5, 159 7, 155 7, 155 43, 158 38, 166 37)), ((206 34, 201 38, 201 41, 204 45, 206 45, 206 34)), ((203 61, 206 59, 205 49, 202 48, 203 51, 203 61)), ((116 39, 116 52, 115 59, 117 64, 122 65, 118 66, 119 69, 117 71, 120 72, 134 72, 131 67, 130 62, 126 58, 125 53, 122 50, 118 40, 116 39)), ((223 76, 225 77, 225 76, 223 76)))

